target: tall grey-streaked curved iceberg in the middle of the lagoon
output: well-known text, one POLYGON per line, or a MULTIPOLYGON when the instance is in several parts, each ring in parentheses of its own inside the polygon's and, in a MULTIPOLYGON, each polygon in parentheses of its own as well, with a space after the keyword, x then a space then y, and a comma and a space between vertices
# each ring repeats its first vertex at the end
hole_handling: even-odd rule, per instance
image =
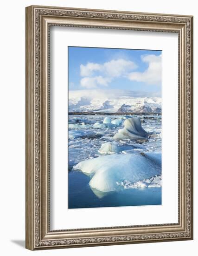
POLYGON ((113 138, 115 140, 144 140, 147 138, 147 135, 147 132, 141 127, 140 119, 138 117, 131 117, 124 121, 124 128, 119 129, 113 138))

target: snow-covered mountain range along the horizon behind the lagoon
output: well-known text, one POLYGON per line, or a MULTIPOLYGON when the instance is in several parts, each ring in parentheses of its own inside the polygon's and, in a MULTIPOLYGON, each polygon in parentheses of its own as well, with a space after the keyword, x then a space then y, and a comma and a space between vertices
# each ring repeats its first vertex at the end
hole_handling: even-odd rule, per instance
POLYGON ((69 112, 161 113, 161 97, 143 97, 133 91, 69 91, 69 112))

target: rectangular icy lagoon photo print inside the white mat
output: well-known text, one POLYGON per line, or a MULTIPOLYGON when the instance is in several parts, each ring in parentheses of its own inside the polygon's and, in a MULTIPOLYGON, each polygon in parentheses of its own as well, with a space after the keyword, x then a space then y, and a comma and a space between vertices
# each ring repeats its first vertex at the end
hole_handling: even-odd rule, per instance
POLYGON ((162 52, 68 47, 68 208, 161 204, 162 52))

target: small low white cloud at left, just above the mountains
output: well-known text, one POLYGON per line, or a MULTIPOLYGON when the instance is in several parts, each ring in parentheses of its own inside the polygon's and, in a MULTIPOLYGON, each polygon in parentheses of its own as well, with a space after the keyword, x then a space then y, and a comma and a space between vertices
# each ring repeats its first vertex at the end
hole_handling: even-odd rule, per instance
POLYGON ((104 78, 101 75, 95 77, 83 77, 80 84, 84 88, 97 88, 98 86, 107 86, 110 78, 104 78))

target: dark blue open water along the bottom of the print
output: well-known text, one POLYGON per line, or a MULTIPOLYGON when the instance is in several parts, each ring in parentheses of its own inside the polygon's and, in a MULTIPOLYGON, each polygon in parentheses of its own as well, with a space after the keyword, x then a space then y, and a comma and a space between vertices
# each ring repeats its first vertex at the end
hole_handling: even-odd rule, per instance
POLYGON ((161 204, 161 188, 122 189, 102 194, 94 193, 89 181, 89 176, 82 172, 69 172, 69 209, 161 204))

